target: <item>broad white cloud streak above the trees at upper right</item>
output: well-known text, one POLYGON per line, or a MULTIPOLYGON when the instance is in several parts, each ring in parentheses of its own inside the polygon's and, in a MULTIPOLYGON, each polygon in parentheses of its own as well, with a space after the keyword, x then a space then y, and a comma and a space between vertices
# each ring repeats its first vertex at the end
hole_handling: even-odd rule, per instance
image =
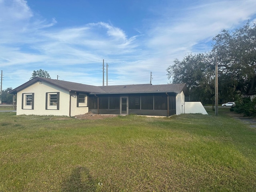
POLYGON ((200 5, 184 8, 182 15, 175 18, 172 13, 164 14, 162 22, 150 30, 148 46, 175 52, 193 52, 193 46, 211 40, 222 29, 233 29, 255 16, 256 1, 201 1, 200 5), (168 16, 166 16, 168 14, 168 16))

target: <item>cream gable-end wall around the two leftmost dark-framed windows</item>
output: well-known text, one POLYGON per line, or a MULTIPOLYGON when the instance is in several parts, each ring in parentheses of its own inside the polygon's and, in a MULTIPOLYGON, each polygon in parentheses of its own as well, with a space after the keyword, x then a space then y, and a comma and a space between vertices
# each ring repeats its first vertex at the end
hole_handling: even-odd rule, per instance
POLYGON ((17 93, 17 115, 69 116, 69 92, 46 82, 36 82, 17 93), (59 110, 46 110, 46 92, 60 92, 59 110), (22 109, 22 93, 34 93, 34 109, 22 109))

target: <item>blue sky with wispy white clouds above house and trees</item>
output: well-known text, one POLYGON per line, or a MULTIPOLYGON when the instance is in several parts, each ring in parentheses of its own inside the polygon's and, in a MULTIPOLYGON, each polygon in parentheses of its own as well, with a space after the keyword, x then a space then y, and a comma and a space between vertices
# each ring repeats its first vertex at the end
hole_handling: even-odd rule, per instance
POLYGON ((2 89, 51 78, 102 85, 167 84, 175 58, 256 21, 255 0, 0 0, 2 89))

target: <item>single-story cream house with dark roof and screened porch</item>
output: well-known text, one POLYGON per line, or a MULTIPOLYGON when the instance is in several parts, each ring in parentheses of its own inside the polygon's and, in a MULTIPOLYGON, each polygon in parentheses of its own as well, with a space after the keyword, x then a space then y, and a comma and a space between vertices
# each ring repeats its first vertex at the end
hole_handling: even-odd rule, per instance
POLYGON ((17 115, 185 113, 186 84, 91 86, 36 77, 10 92, 17 94, 17 115))

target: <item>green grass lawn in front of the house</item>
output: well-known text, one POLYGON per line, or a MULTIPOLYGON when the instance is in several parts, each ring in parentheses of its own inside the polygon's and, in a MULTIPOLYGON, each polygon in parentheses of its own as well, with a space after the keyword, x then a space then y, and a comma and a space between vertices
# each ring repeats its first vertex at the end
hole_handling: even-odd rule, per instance
POLYGON ((230 118, 0 113, 0 192, 256 189, 256 130, 230 118))

